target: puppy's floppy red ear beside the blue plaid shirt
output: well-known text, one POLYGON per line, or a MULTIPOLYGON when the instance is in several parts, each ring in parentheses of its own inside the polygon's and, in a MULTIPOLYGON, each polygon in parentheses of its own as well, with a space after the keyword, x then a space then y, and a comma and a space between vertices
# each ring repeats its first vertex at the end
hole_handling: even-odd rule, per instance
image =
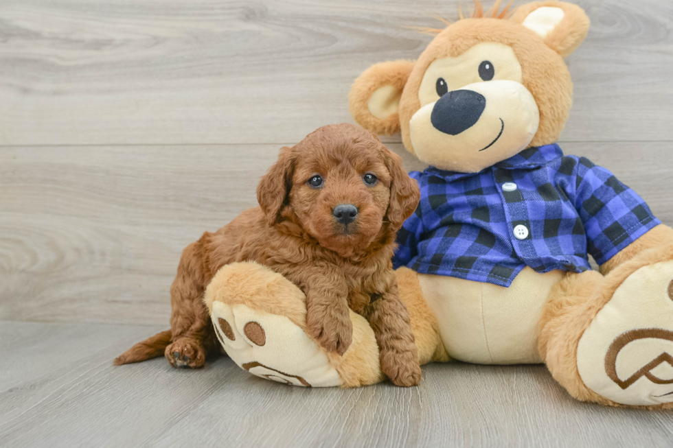
POLYGON ((390 202, 386 216, 391 226, 398 230, 418 207, 420 189, 418 183, 404 171, 402 158, 385 147, 383 150, 385 165, 390 173, 390 202))

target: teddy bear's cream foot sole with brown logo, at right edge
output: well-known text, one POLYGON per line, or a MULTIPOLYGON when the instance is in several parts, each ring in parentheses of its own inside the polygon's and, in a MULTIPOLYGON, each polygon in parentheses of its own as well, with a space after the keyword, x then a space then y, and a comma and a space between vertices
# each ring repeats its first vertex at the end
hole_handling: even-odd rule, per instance
POLYGON ((587 388, 615 403, 673 403, 673 261, 617 287, 582 334, 577 367, 587 388))

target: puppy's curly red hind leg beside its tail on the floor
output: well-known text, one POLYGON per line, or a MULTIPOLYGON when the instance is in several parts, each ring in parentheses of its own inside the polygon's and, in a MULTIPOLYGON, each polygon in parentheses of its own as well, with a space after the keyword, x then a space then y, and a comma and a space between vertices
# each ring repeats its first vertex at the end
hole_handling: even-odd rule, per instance
POLYGON ((196 241, 183 251, 178 274, 170 287, 173 342, 164 355, 173 367, 201 367, 207 355, 216 349, 214 330, 203 303, 208 281, 201 241, 196 241))

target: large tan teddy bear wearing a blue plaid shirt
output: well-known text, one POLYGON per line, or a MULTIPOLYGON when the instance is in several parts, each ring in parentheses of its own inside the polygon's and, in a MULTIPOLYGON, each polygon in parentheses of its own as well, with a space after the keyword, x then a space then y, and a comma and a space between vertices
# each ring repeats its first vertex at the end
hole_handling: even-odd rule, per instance
MULTIPOLYGON (((673 230, 608 169, 556 144, 573 92, 563 58, 589 18, 562 1, 511 13, 475 3, 472 17, 426 30, 436 36, 417 60, 367 69, 349 98, 363 128, 401 131, 430 165, 410 174, 421 201, 393 258, 419 361, 544 363, 575 399, 673 408, 673 230)), ((351 314, 343 356, 324 351, 306 332, 304 295, 263 266, 223 267, 205 303, 254 375, 385 379, 364 318, 351 314)))

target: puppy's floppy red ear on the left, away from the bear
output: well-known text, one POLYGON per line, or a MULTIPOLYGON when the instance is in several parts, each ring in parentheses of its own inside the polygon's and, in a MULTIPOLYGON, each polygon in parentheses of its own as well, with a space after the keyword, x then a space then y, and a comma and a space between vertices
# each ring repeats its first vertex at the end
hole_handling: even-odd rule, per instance
POLYGON ((269 168, 257 187, 257 202, 270 226, 277 222, 283 207, 288 204, 295 158, 293 148, 281 148, 278 161, 269 168))

